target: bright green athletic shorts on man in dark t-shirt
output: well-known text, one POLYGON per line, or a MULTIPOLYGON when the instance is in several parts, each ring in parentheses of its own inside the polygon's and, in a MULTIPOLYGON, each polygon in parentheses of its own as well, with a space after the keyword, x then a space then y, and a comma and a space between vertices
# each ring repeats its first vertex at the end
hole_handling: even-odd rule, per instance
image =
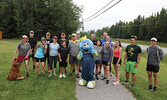
POLYGON ((135 67, 136 62, 127 61, 125 65, 125 71, 130 73, 136 73, 137 69, 135 67))

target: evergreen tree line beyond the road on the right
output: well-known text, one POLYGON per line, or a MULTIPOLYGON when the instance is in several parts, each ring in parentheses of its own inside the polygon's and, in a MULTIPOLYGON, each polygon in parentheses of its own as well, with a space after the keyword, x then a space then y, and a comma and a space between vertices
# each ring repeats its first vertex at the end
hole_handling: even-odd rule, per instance
POLYGON ((139 15, 130 22, 119 21, 111 27, 89 31, 98 36, 102 36, 103 32, 108 32, 112 38, 129 39, 131 35, 135 35, 140 40, 149 41, 156 37, 159 42, 167 42, 167 9, 162 8, 160 12, 146 18, 139 15))

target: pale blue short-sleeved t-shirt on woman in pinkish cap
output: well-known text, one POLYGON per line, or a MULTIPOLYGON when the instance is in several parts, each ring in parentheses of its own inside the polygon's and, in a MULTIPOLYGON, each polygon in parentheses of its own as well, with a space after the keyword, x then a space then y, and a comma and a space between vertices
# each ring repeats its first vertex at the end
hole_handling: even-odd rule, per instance
POLYGON ((59 44, 51 43, 49 47, 50 47, 50 56, 58 56, 58 49, 60 48, 59 44))

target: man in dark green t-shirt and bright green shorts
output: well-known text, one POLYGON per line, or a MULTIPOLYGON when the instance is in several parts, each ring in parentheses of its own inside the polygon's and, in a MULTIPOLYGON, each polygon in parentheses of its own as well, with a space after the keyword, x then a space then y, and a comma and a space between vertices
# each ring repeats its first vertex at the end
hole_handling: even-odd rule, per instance
POLYGON ((136 45, 135 37, 131 37, 130 42, 131 42, 131 45, 128 45, 125 50, 126 52, 124 56, 124 65, 125 65, 125 71, 126 71, 126 80, 123 82, 123 84, 129 84, 129 81, 128 81, 129 73, 132 73, 132 84, 130 87, 134 88, 135 81, 136 81, 137 67, 140 61, 142 51, 140 46, 136 45))

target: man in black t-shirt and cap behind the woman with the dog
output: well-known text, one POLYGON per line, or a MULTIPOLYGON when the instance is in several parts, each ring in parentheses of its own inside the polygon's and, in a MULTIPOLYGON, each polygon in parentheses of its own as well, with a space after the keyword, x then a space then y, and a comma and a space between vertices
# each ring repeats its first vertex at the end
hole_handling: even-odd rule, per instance
POLYGON ((30 35, 30 38, 29 38, 28 42, 30 43, 31 49, 32 49, 31 57, 32 57, 32 61, 33 61, 33 70, 36 71, 36 69, 35 69, 35 58, 34 58, 33 52, 34 52, 34 48, 37 45, 37 40, 36 40, 36 38, 34 38, 34 31, 30 31, 29 35, 30 35))

